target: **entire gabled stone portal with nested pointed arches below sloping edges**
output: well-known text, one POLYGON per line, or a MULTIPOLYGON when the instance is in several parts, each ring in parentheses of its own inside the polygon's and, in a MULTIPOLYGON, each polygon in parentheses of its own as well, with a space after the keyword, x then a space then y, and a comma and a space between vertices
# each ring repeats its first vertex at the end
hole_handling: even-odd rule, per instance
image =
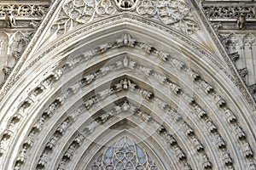
POLYGON ((1 168, 93 169, 124 141, 140 151, 114 152, 120 169, 142 168, 131 161, 139 154, 153 169, 256 168, 253 107, 191 2, 176 7, 173 26, 171 16, 140 15, 151 4, 162 16, 165 6, 149 0, 85 1, 106 12, 88 23, 74 18, 79 6, 67 10, 79 1, 57 2, 1 104, 1 168))

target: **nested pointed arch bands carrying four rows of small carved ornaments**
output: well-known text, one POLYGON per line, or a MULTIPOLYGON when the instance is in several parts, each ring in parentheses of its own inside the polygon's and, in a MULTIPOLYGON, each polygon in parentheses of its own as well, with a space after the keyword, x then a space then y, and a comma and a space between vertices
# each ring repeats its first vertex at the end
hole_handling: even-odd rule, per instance
MULTIPOLYGON (((77 72, 77 75, 81 74, 77 72)), ((84 144, 84 139, 89 136, 97 139, 106 133, 106 129, 119 125, 118 122, 122 120, 140 127, 136 117, 141 119, 140 122, 146 122, 149 129, 147 133, 155 130, 152 141, 162 144, 161 149, 168 149, 166 155, 174 167, 177 164, 176 168, 230 169, 235 166, 255 166, 249 139, 241 128, 241 120, 232 111, 233 108, 230 108, 231 104, 221 96, 225 94, 220 94, 218 88, 214 88, 180 59, 150 44, 137 42, 127 33, 113 42, 100 44, 65 60, 38 83, 37 88, 32 89, 9 120, 0 145, 2 156, 9 151, 7 145, 19 125, 29 117, 27 112, 33 105, 37 105, 38 97, 47 93, 50 87, 56 88, 55 94, 51 94, 51 99, 46 102, 48 105, 40 109, 38 120, 33 122, 30 133, 20 145, 20 153, 13 165, 16 169, 48 169, 55 164, 59 170, 76 167, 78 165, 74 165, 71 160, 73 153, 83 155, 79 150, 83 148, 80 146, 84 144), (101 55, 116 48, 141 51, 141 55, 117 54, 112 56, 111 62, 108 62, 109 59, 100 60, 101 55), (168 69, 166 65, 149 67, 152 62, 142 54, 156 60, 158 58, 174 69, 168 69), (84 68, 83 76, 70 77, 67 82, 65 79, 60 82, 62 77, 73 73, 76 68, 81 68, 81 65, 93 58, 99 61, 94 66, 84 68), (144 62, 141 62, 142 59, 144 62), (137 72, 150 81, 145 82, 142 77, 131 72, 137 72), (109 83, 107 80, 112 73, 118 73, 119 77, 112 78, 109 83), (191 85, 188 82, 192 82, 193 88, 196 88, 193 95, 188 90, 191 85), (104 88, 106 84, 109 85, 108 88, 104 88), (171 93, 166 93, 166 89, 171 93), (71 114, 67 113, 70 110, 71 114), (118 116, 124 113, 130 113, 131 117, 124 119, 118 116), (106 129, 102 129, 105 124, 106 129), (228 131, 231 133, 228 134, 228 131), (36 141, 38 138, 40 140, 36 141), (234 141, 236 142, 233 143, 234 141), (171 152, 175 153, 174 156, 171 156, 171 152), (49 157, 54 157, 55 161, 50 161, 49 157)), ((85 141, 86 147, 90 147, 93 141, 85 141)))

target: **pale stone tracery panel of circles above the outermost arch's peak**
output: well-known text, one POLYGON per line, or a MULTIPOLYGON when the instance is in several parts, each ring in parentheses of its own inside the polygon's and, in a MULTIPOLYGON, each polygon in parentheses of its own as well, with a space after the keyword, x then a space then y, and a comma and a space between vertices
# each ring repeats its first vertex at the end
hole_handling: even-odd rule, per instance
POLYGON ((160 20, 188 35, 199 30, 189 6, 181 0, 67 0, 53 29, 62 34, 73 26, 125 11, 160 20))

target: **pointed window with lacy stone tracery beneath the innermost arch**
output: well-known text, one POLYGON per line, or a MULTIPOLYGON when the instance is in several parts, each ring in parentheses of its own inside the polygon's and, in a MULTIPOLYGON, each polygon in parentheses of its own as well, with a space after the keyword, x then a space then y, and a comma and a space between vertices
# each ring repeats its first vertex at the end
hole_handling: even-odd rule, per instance
POLYGON ((158 167, 142 147, 132 142, 127 136, 124 136, 115 144, 109 146, 91 167, 91 170, 103 169, 157 170, 158 167))

